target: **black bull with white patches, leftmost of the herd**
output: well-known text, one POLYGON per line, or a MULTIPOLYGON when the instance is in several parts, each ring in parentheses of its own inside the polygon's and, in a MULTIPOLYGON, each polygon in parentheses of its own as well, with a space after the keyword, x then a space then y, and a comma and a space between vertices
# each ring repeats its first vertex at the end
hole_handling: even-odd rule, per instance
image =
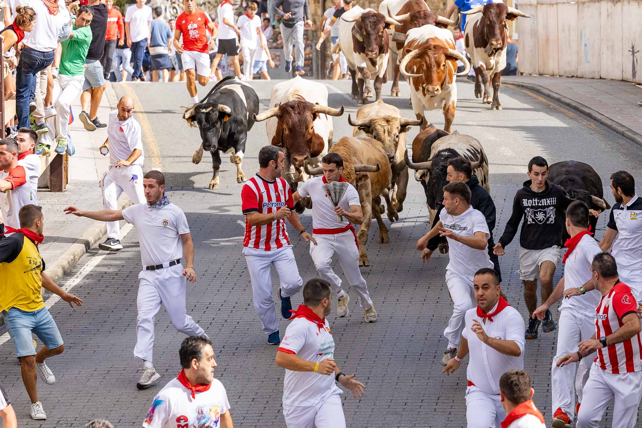
POLYGON ((218 189, 218 171, 221 167, 219 152, 230 153, 230 162, 236 165, 236 181, 242 183, 247 178, 241 164, 245 152, 247 133, 254 125, 255 114, 259 112, 259 97, 254 89, 238 78, 227 76, 216 83, 207 96, 186 108, 183 119, 189 126, 198 126, 202 143, 192 157, 198 164, 207 150, 212 155, 214 174, 209 189, 218 189))

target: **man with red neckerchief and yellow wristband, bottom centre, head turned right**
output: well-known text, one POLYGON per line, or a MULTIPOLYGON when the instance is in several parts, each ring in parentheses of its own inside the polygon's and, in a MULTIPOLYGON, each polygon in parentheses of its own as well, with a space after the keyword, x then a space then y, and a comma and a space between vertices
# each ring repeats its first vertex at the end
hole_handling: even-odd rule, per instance
POLYGON ((329 282, 312 278, 303 287, 303 304, 285 330, 276 364, 286 369, 283 415, 288 428, 345 428, 340 382, 361 398, 365 386, 344 375, 334 361, 334 339, 325 318, 332 309, 329 282))

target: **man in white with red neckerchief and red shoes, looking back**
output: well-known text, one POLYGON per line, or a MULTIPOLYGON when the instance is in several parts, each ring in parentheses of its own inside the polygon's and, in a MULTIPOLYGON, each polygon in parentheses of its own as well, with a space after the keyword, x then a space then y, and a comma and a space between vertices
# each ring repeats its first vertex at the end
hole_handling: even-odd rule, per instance
POLYGON ((600 303, 600 292, 594 289, 591 262, 601 253, 600 246, 589 233, 589 207, 582 201, 573 201, 566 209, 566 230, 571 236, 564 246, 564 277, 544 304, 532 317, 544 319, 546 311, 562 300, 557 329, 557 354, 551 368, 551 396, 553 399, 553 427, 564 428, 571 423, 582 402, 582 389, 589 377, 591 361, 587 358, 578 364, 575 376, 577 407, 573 393, 575 364, 558 367, 557 361, 566 354, 577 352, 577 344, 590 339, 595 331, 595 308, 600 303))

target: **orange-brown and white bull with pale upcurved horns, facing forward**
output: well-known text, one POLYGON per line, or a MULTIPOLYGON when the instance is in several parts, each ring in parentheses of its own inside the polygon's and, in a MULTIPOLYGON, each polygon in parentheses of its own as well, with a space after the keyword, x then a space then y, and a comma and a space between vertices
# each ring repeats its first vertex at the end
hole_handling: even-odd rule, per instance
MULTIPOLYGON (((410 101, 417 119, 424 117, 424 108, 441 108, 444 130, 450 132, 457 104, 455 76, 465 76, 470 67, 465 56, 455 50, 450 30, 434 25, 409 30, 399 69, 409 79, 410 101), (461 73, 456 73, 457 60, 465 65, 461 73)), ((428 123, 425 117, 424 121, 428 123)))

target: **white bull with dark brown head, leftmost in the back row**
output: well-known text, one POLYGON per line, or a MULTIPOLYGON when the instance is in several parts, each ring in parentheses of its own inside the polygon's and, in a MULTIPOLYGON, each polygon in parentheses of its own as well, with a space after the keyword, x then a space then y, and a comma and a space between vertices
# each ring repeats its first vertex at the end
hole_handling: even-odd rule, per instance
POLYGON ((364 92, 370 89, 370 80, 374 78, 376 99, 381 98, 381 85, 388 67, 389 36, 388 29, 401 24, 386 17, 376 10, 354 6, 343 13, 338 22, 339 41, 333 46, 333 53, 343 51, 348 69, 352 76, 352 99, 358 98, 365 104, 365 98, 371 96, 364 92), (358 78, 357 78, 358 73, 358 78))

